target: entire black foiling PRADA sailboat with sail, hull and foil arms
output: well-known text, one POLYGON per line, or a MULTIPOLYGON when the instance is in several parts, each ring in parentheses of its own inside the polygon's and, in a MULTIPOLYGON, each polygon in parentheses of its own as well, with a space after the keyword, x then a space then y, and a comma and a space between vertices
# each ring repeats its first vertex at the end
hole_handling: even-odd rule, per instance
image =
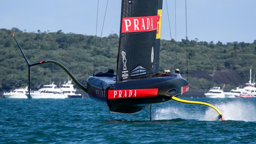
POLYGON ((30 64, 13 33, 28 63, 29 87, 30 67, 52 62, 63 68, 90 98, 106 103, 111 113, 134 114, 151 104, 176 100, 210 106, 224 120, 220 111, 210 104, 176 98, 189 90, 188 82, 180 75, 158 72, 162 5, 162 0, 122 0, 116 74, 112 69, 107 73, 96 73, 88 77, 87 87, 57 61, 30 64))

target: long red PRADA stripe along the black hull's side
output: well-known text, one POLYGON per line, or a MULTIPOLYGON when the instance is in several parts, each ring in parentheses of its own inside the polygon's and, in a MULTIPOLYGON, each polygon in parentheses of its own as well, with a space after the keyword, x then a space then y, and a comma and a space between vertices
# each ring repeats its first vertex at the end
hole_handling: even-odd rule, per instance
POLYGON ((158 89, 108 90, 108 99, 156 97, 158 89))

